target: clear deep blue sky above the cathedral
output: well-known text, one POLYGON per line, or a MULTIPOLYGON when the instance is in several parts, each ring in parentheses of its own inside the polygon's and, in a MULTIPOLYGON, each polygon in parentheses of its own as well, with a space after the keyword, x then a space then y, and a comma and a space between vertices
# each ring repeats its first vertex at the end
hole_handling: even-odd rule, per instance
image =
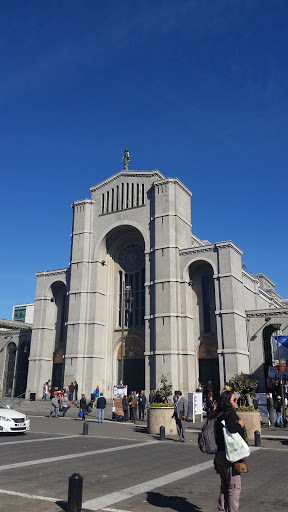
POLYGON ((122 169, 192 191, 193 232, 233 240, 288 297, 286 0, 0 6, 0 317, 69 265, 71 203, 122 169))

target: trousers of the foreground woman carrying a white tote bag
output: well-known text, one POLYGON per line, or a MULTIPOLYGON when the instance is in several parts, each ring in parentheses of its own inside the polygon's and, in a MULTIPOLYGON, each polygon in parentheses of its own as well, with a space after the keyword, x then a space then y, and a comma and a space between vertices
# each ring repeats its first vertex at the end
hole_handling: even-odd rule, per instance
POLYGON ((224 451, 215 453, 215 466, 221 478, 218 512, 238 512, 241 492, 241 476, 226 459, 224 451))

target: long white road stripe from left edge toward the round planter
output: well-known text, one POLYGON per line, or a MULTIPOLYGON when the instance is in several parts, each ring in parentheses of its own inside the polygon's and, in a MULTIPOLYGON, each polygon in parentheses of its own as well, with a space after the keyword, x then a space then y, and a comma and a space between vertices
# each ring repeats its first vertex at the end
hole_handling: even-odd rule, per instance
MULTIPOLYGON (((65 437, 66 439, 66 437, 65 437)), ((77 459, 79 457, 86 457, 87 455, 98 455, 101 453, 110 453, 116 452, 118 450, 128 450, 129 448, 137 448, 142 446, 147 446, 151 444, 158 444, 159 441, 148 441, 137 444, 128 444, 126 446, 117 446, 115 448, 104 448, 102 450, 94 450, 91 452, 81 452, 81 453, 71 453, 69 455, 61 455, 59 457, 50 457, 48 459, 37 459, 37 460, 28 460, 26 462, 17 462, 15 464, 5 464, 4 466, 0 466, 0 471, 6 471, 7 469, 16 469, 23 468, 26 466, 35 466, 36 464, 48 464, 49 462, 59 462, 61 460, 67 459, 77 459)))

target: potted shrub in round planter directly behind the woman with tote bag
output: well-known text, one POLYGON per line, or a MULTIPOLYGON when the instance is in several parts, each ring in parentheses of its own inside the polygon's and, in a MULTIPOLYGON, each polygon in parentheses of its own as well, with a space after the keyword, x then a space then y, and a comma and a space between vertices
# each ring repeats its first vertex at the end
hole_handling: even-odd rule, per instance
POLYGON ((247 436, 250 441, 254 440, 255 430, 261 432, 260 412, 259 409, 256 411, 253 405, 248 405, 248 396, 255 395, 258 381, 251 379, 249 375, 244 373, 236 373, 231 379, 232 388, 235 393, 240 394, 242 404, 240 401, 239 407, 236 412, 240 419, 244 421, 247 436))

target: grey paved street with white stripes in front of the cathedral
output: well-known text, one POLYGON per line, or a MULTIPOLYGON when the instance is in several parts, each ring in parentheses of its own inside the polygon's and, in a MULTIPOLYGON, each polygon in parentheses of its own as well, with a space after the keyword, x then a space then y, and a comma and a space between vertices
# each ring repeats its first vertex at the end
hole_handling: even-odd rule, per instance
MULTIPOLYGON (((198 449, 193 423, 187 425, 186 443, 180 444, 147 435, 143 422, 98 424, 94 414, 83 436, 77 409, 59 419, 42 410, 35 409, 34 416, 32 411, 26 435, 0 437, 1 511, 66 510, 68 477, 75 472, 84 479, 83 510, 217 510, 219 477, 213 457, 198 449)), ((263 448, 252 452, 250 472, 242 476, 243 512, 288 508, 288 437, 277 429, 264 428, 263 434, 271 439, 263 439, 263 448)))

